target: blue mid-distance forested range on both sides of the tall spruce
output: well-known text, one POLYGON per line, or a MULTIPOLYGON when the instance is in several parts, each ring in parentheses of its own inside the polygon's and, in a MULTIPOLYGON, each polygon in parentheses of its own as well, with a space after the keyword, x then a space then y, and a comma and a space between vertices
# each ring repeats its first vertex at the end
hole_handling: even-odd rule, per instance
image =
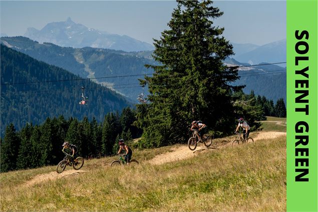
MULTIPOLYGON (((155 63, 150 59, 151 51, 127 53, 97 48, 62 48, 50 43, 39 44, 25 37, 2 38, 1 42, 37 60, 62 67, 83 78, 99 78, 94 81, 124 94, 133 102, 136 102, 137 95, 142 91, 138 79, 143 78, 144 74, 152 73, 152 70, 146 69, 144 65, 155 63), (114 77, 124 75, 141 76, 114 77)), ((240 63, 233 58, 227 59, 225 64, 249 66, 248 63, 240 63)), ((241 78, 235 84, 246 85, 245 93, 254 90, 256 95, 265 96, 274 102, 279 98, 285 100, 284 70, 285 68, 276 65, 241 67, 239 70, 241 78)))

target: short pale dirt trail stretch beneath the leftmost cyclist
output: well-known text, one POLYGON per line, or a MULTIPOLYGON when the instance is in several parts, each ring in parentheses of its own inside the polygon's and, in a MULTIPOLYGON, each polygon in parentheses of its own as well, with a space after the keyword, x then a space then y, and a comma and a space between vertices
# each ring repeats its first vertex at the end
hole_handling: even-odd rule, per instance
POLYGON ((25 183, 26 186, 34 185, 46 180, 52 180, 52 179, 59 179, 62 177, 68 177, 68 176, 74 176, 77 174, 80 174, 82 172, 85 172, 83 170, 75 170, 75 169, 69 169, 69 170, 64 170, 62 173, 57 173, 56 171, 51 171, 50 173, 46 174, 39 174, 32 178, 31 180, 27 181, 25 183))

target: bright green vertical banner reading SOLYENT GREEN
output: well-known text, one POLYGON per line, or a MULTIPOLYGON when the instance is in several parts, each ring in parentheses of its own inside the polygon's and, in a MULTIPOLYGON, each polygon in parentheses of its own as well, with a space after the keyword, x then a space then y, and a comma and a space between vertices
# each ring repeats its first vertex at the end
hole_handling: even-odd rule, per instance
POLYGON ((317 0, 287 0, 287 211, 318 211, 317 0))

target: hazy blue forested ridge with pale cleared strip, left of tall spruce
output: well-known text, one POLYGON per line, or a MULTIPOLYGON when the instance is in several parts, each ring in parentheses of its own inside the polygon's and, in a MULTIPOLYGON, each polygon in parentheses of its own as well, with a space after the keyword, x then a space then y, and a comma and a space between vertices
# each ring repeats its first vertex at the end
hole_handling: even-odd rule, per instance
POLYGON ((94 79, 136 101, 141 93, 139 78, 151 74, 145 64, 153 64, 149 59, 151 51, 124 52, 97 48, 66 48, 51 43, 39 44, 25 37, 1 38, 2 44, 25 53, 37 60, 66 69, 83 78, 94 79), (123 75, 139 75, 109 78, 123 75))

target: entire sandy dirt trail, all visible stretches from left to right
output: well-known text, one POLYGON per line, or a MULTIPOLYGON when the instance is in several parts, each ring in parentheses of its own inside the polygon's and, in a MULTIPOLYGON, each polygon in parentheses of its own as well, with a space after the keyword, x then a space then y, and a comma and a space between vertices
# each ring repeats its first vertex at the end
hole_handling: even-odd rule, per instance
MULTIPOLYGON (((260 139, 273 139, 279 136, 286 136, 285 132, 260 132, 255 135, 252 135, 254 138, 254 141, 260 140, 260 139)), ((153 159, 149 160, 148 162, 153 165, 158 165, 158 164, 163 164, 166 162, 172 162, 172 161, 177 161, 177 160, 183 160, 189 157, 194 157, 200 152, 203 151, 211 151, 215 149, 220 149, 220 148, 225 148, 226 146, 231 145, 229 142, 229 139, 226 140, 224 139, 223 142, 221 143, 216 143, 212 144, 210 147, 205 147, 203 144, 200 143, 200 145, 197 146, 195 151, 191 151, 187 145, 183 146, 176 146, 172 150, 173 152, 167 152, 164 154, 157 155, 153 159)), ((32 178, 31 180, 27 181, 25 183, 26 186, 31 186, 46 180, 54 180, 54 179, 59 179, 62 177, 69 177, 69 176, 74 176, 80 173, 85 172, 84 170, 74 170, 74 169, 69 169, 65 170, 62 173, 58 174, 56 171, 52 171, 50 173, 45 173, 45 174, 39 174, 32 178)))

